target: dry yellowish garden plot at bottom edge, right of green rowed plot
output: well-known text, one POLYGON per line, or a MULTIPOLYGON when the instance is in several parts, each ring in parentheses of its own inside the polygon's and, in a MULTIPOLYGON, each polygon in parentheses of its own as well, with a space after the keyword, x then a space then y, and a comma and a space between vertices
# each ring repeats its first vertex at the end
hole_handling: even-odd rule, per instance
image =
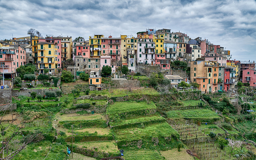
POLYGON ((161 151, 160 153, 166 160, 194 160, 184 148, 180 148, 180 152, 177 149, 172 149, 161 151))

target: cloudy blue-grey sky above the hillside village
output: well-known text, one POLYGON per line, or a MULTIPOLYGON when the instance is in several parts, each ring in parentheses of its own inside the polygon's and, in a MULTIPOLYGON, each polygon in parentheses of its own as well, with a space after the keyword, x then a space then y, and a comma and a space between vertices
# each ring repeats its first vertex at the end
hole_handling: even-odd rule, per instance
POLYGON ((0 39, 94 34, 136 36, 146 28, 202 37, 230 50, 233 59, 256 61, 255 0, 0 0, 0 39))

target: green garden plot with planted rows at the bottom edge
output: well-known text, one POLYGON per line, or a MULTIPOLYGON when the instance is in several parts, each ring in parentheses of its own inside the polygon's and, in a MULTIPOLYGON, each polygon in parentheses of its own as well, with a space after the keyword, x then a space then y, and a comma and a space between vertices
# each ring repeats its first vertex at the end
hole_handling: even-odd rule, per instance
POLYGON ((124 151, 125 160, 163 160, 158 151, 124 151))

